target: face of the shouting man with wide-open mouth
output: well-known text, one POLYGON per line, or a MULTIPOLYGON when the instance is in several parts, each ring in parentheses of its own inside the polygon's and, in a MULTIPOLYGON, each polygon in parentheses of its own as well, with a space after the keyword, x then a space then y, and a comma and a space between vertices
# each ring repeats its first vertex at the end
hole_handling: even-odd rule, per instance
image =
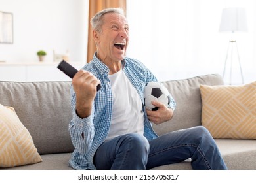
POLYGON ((129 42, 129 27, 125 17, 116 13, 104 15, 102 32, 96 33, 97 56, 104 61, 121 61, 125 58, 129 42))

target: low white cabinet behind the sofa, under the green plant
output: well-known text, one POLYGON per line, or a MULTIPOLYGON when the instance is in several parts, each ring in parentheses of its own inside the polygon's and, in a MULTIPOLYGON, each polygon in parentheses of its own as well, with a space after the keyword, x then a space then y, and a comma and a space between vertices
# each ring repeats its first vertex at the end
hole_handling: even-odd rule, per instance
MULTIPOLYGON (((85 63, 70 62, 77 70, 85 63)), ((58 63, 0 63, 0 81, 70 81, 58 63)))

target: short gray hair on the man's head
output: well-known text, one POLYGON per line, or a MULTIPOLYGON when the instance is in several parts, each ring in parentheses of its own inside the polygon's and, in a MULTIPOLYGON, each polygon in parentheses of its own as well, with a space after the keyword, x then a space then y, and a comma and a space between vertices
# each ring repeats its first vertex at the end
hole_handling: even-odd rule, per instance
POLYGON ((104 14, 107 13, 117 13, 122 16, 125 16, 125 13, 122 8, 106 8, 104 10, 101 10, 100 12, 97 12, 93 18, 91 18, 91 25, 94 30, 101 32, 102 31, 102 25, 104 24, 104 14))

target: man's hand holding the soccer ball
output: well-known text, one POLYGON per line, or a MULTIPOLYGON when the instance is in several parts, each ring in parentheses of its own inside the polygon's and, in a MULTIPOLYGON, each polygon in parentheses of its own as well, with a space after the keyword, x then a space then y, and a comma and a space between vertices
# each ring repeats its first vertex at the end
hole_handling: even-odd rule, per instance
POLYGON ((173 117, 173 110, 171 108, 167 108, 163 103, 160 103, 158 101, 152 101, 152 105, 158 107, 158 110, 146 110, 146 113, 148 114, 148 119, 151 122, 158 125, 168 120, 171 120, 171 118, 173 117))

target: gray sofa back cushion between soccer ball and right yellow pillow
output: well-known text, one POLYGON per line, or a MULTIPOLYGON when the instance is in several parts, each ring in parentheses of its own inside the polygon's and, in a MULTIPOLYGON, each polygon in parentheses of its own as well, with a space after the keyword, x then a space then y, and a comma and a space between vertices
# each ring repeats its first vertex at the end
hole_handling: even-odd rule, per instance
POLYGON ((221 85, 223 84, 223 79, 220 75, 212 74, 163 82, 163 85, 173 95, 177 107, 173 113, 173 118, 169 122, 160 125, 153 124, 154 130, 158 135, 201 125, 200 84, 221 85))

